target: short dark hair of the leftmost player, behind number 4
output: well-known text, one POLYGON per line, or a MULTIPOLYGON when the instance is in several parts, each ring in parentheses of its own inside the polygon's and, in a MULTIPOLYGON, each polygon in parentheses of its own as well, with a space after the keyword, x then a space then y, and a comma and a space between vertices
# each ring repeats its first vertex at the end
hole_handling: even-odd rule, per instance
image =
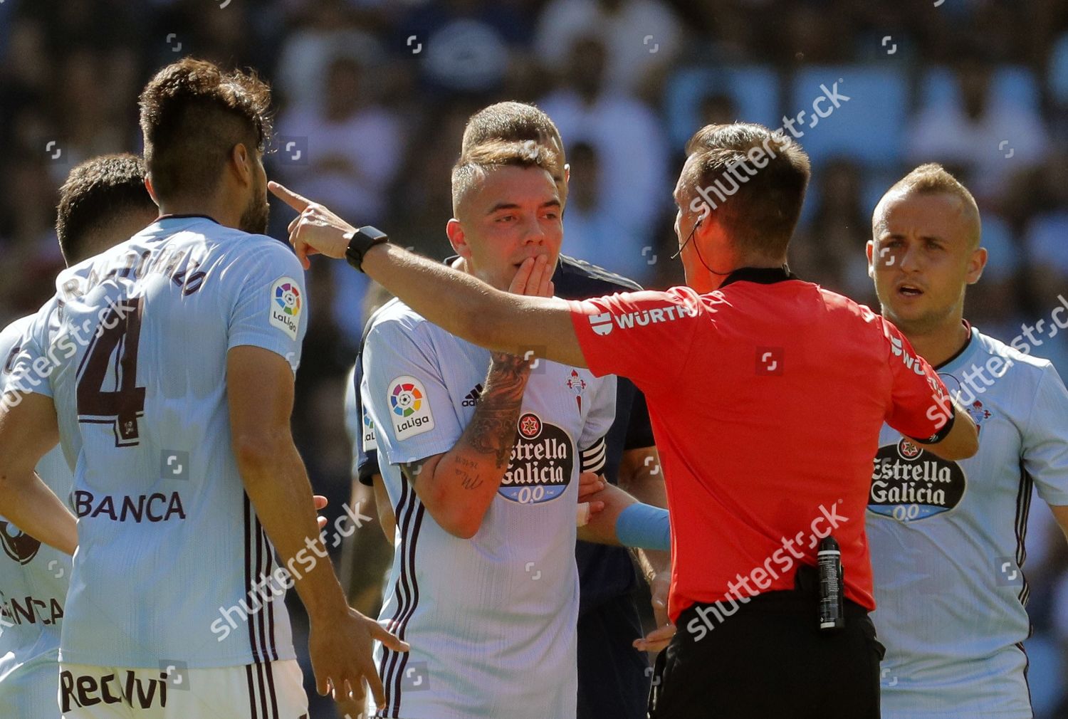
POLYGON ((140 157, 101 155, 75 167, 60 187, 56 208, 56 235, 67 265, 105 249, 96 239, 130 213, 144 217, 156 213, 156 204, 144 188, 140 157))

